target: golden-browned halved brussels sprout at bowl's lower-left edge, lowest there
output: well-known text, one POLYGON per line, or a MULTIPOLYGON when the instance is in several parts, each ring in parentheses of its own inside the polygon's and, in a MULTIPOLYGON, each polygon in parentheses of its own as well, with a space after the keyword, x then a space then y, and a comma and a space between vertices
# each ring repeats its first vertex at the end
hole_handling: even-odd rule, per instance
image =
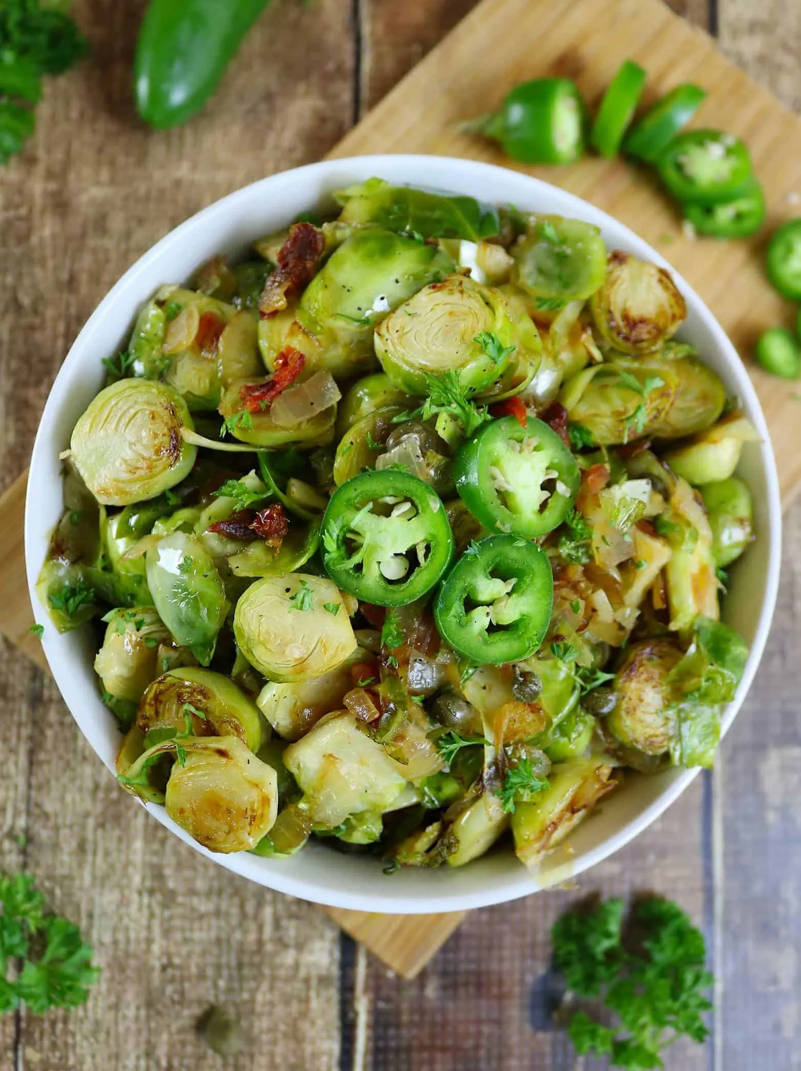
POLYGON ((165 806, 199 844, 210 851, 250 851, 266 836, 278 814, 278 779, 238 737, 188 737, 157 746, 183 749, 165 806))

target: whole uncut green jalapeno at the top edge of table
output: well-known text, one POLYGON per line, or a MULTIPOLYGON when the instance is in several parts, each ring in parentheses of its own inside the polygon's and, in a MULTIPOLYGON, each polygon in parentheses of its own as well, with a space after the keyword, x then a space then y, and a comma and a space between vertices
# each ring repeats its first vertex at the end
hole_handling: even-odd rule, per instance
POLYGON ((191 119, 269 0, 151 0, 139 33, 134 95, 156 130, 191 119))

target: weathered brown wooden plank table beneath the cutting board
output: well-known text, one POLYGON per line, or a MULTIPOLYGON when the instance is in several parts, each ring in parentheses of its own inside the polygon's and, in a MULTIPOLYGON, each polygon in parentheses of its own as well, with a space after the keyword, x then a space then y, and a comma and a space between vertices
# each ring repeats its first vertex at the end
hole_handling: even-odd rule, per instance
MULTIPOLYGON (((2 486, 27 462, 70 343, 122 271, 229 190, 322 156, 473 5, 282 0, 207 111, 152 135, 128 100, 143 0, 76 2, 93 59, 50 87, 35 141, 0 172, 2 486)), ((801 105, 797 4, 674 7, 801 105)), ((668 1068, 801 1068, 800 647, 797 506, 769 650, 714 774, 582 883, 657 889, 707 932, 720 980, 711 1043, 671 1053, 668 1068)), ((72 1015, 0 1017, 0 1067, 212 1071, 220 1061, 196 1041, 192 1023, 215 1001, 234 1005, 245 1027, 245 1053, 226 1064, 233 1071, 574 1066, 566 1038, 551 1029, 546 967, 549 926, 575 893, 472 914, 415 981, 401 981, 318 909, 209 866, 132 808, 53 684, 5 644, 0 703, 0 870, 33 871, 50 903, 80 921, 104 967, 92 999, 72 1015)))

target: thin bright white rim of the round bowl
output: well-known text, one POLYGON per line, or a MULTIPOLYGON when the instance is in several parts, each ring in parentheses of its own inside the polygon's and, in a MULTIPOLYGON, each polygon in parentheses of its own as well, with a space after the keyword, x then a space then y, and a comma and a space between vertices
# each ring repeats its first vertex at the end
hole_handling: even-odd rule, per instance
MULTIPOLYGON (((687 283, 687 281, 669 265, 669 262, 657 250, 652 248, 644 239, 640 238, 635 231, 631 230, 631 228, 629 228, 626 224, 621 223, 614 216, 611 216, 609 213, 596 208, 596 206, 591 202, 586 201, 583 198, 554 185, 553 183, 544 182, 541 179, 536 179, 511 168, 498 167, 493 164, 487 164, 478 161, 436 155, 381 154, 326 160, 314 164, 307 164, 288 171, 280 171, 250 183, 247 186, 243 186, 242 188, 214 201, 206 208, 190 216, 151 246, 151 248, 148 250, 148 252, 145 252, 121 276, 121 278, 96 306, 71 346, 70 351, 52 383, 52 387, 50 388, 36 432, 31 456, 30 478, 28 483, 29 493, 26 497, 25 514, 26 571, 29 594, 36 621, 45 625, 49 623, 47 614, 44 608, 40 606, 35 592, 36 576, 41 567, 41 562, 36 560, 36 554, 40 552, 43 533, 34 526, 30 488, 35 485, 36 476, 40 470, 43 469, 43 466, 48 459, 46 452, 49 450, 49 443, 46 442, 46 429, 53 424, 61 408, 63 407, 64 399, 67 396, 65 389, 66 382, 71 376, 72 369, 74 366, 80 366, 84 363, 84 350, 88 348, 95 326, 103 320, 109 310, 113 308, 118 300, 124 296, 128 288, 135 288, 139 276, 147 273, 150 267, 156 263, 168 251, 173 248, 176 244, 184 242, 188 236, 196 231, 196 229, 202 228, 204 225, 217 220, 218 217, 230 218, 231 223, 233 223, 236 217, 237 209, 241 205, 249 202, 250 198, 261 194, 264 194, 265 198, 268 199, 271 185, 276 186, 281 183, 289 182, 294 186, 294 188, 309 186, 313 190, 315 183, 318 181, 322 181, 328 188, 337 188, 338 185, 342 185, 342 181, 332 182, 329 180, 340 174, 343 177, 349 177, 349 181, 353 181, 353 172, 358 172, 361 176, 360 180, 364 181, 364 179, 370 176, 382 176, 383 172, 387 170, 394 174, 404 170, 414 172, 415 177, 407 180, 411 185, 428 184, 427 182, 422 182, 417 174, 420 170, 428 170, 431 174, 432 179, 431 187, 438 186, 438 181, 442 179, 443 172, 447 172, 448 188, 452 188, 455 191, 459 190, 459 176, 464 176, 465 179, 468 179, 472 176, 475 177, 477 181, 490 181, 493 178, 508 181, 509 176, 514 176, 517 181, 524 183, 526 188, 530 190, 530 197, 533 200, 536 199, 538 193, 540 195, 544 193, 546 198, 553 198, 554 194, 556 194, 557 199, 563 201, 566 206, 566 214, 574 214, 577 218, 588 220, 589 222, 606 227, 607 229, 618 231, 618 233, 622 236, 625 244, 629 247, 634 247, 634 250, 637 251, 637 255, 648 257, 653 262, 668 269, 677 286, 684 296, 688 304, 688 313, 694 313, 695 316, 699 318, 705 330, 711 334, 717 351, 726 365, 727 371, 731 374, 731 377, 737 381, 740 397, 744 401, 745 407, 750 410, 750 414, 763 437, 760 457, 766 482, 765 506, 768 521, 768 530, 765 533, 768 541, 767 569, 758 622, 754 634, 754 640, 751 644, 749 651, 749 659, 745 665, 742 681, 740 682, 735 699, 728 705, 723 718, 723 736, 737 715, 761 660, 779 590, 779 573, 781 565, 782 510, 779 477, 767 423, 753 383, 751 382, 751 379, 744 369, 733 343, 729 341, 723 328, 707 307, 706 303, 687 283)), ((404 180, 396 177, 392 181, 400 184, 404 180)), ((503 198, 498 197, 498 201, 500 202, 502 200, 503 198)), ((112 764, 104 756, 101 750, 101 743, 97 739, 95 739, 95 735, 90 731, 87 720, 75 713, 74 706, 77 706, 77 704, 70 702, 64 694, 65 692, 67 694, 74 693, 75 690, 72 687, 62 687, 62 683, 66 681, 68 668, 66 665, 67 660, 65 659, 65 650, 62 649, 63 639, 64 636, 57 634, 52 628, 46 629, 45 637, 43 639, 43 649, 47 658, 48 665, 50 666, 52 677, 59 687, 59 691, 64 697, 64 702, 70 709, 72 718, 76 721, 90 745, 104 765, 109 767, 109 769, 113 772, 112 764)), ((71 698, 73 700, 77 699, 77 695, 73 694, 71 695, 71 698)), ((99 702, 99 697, 97 697, 97 703, 99 702)), ((698 772, 699 769, 694 768, 682 770, 680 773, 677 773, 667 787, 663 789, 648 806, 644 808, 641 813, 627 820, 620 829, 606 836, 596 847, 584 853, 579 863, 571 869, 570 876, 576 876, 579 873, 582 873, 601 860, 606 859, 620 847, 628 844, 629 841, 641 833, 661 814, 663 814, 664 811, 666 811, 666 809, 681 795, 681 793, 684 791, 691 782, 694 781, 698 772)), ((267 860, 262 860, 248 853, 236 853, 233 855, 218 855, 211 853, 206 848, 202 847, 202 845, 199 845, 184 830, 176 826, 167 816, 163 808, 157 808, 153 804, 142 805, 145 806, 145 809, 150 811, 157 818, 157 820, 161 823, 161 825, 166 826, 173 833, 180 836, 186 844, 226 869, 247 877, 250 880, 257 881, 265 888, 299 896, 329 907, 392 915, 463 911, 476 907, 489 906, 492 904, 515 900, 520 896, 539 891, 540 888, 544 887, 538 886, 536 884, 536 879, 533 879, 532 875, 528 874, 525 868, 521 866, 521 874, 519 877, 512 879, 508 877, 495 879, 491 875, 484 883, 486 888, 468 892, 443 892, 442 888, 432 888, 430 894, 427 893, 411 896, 401 893, 397 889, 396 892, 394 892, 391 887, 395 883, 389 881, 387 883, 386 895, 374 893, 366 894, 359 892, 358 889, 338 891, 326 887, 324 866, 320 868, 319 878, 310 880, 308 878, 297 878, 289 875, 286 871, 282 871, 280 860, 271 860, 269 862, 274 862, 277 865, 267 868, 263 865, 263 863, 267 862, 267 860)))

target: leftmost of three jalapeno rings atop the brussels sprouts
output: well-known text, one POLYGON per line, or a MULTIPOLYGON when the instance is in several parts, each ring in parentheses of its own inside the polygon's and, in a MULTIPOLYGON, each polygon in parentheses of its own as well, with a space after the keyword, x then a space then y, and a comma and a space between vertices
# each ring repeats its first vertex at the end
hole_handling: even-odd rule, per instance
POLYGON ((453 556, 442 500, 422 480, 399 469, 363 472, 338 487, 322 537, 330 578, 376 606, 419 599, 453 556))

